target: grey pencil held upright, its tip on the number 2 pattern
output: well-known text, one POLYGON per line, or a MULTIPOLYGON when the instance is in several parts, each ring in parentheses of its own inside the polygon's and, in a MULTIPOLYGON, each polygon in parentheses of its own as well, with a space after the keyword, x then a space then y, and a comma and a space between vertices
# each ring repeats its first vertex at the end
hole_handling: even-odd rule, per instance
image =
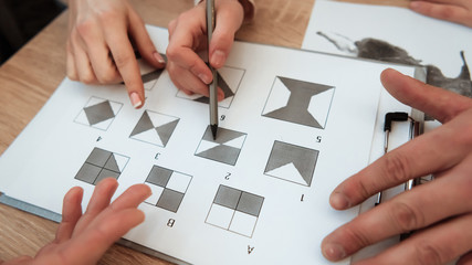
POLYGON ((207 36, 208 36, 208 67, 211 70, 213 81, 209 85, 210 91, 210 128, 213 135, 213 140, 217 139, 218 131, 218 74, 210 65, 210 42, 213 35, 216 24, 214 17, 214 0, 207 0, 207 36))

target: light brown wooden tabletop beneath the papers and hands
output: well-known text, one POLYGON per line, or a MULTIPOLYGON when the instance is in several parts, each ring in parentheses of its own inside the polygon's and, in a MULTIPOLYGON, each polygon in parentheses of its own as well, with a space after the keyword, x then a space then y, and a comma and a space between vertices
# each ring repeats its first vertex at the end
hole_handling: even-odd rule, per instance
MULTIPOLYGON (((130 0, 148 24, 167 26, 191 0, 130 0)), ((343 0, 405 7, 408 0, 343 0)), ((315 0, 258 0, 256 18, 244 24, 238 40, 301 47, 315 0)), ((41 109, 65 77, 67 11, 43 29, 0 67, 0 153, 41 109)), ((164 52, 164 51, 160 51, 164 52)), ((1 189, 0 189, 1 190, 1 189)), ((34 256, 54 239, 57 224, 0 203, 0 261, 34 256)), ((113 245, 98 264, 170 264, 113 245)))

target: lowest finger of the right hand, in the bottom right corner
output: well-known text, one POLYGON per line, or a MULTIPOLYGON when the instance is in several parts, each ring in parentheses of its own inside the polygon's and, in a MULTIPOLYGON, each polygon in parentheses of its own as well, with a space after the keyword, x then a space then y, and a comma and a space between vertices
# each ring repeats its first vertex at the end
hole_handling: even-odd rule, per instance
MULTIPOLYGON (((388 251, 356 265, 366 264, 447 264, 472 247, 472 214, 417 232, 388 251)), ((463 258, 468 258, 464 256, 463 258)), ((464 262, 466 259, 462 259, 464 262)), ((461 264, 461 263, 458 263, 461 264)))

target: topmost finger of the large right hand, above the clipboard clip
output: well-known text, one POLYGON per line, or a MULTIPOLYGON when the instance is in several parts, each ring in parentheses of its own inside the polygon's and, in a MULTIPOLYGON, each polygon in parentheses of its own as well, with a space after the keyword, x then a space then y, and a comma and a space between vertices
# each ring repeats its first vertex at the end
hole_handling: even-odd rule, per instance
POLYGON ((427 85, 391 68, 384 71, 380 80, 385 88, 398 100, 431 115, 441 123, 472 107, 468 97, 427 85))

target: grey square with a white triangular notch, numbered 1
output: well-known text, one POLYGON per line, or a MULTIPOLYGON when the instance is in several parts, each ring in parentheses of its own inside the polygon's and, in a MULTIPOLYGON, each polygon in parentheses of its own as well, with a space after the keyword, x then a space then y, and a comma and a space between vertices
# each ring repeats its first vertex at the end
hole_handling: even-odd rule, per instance
POLYGON ((264 174, 311 187, 319 151, 275 141, 264 174))

